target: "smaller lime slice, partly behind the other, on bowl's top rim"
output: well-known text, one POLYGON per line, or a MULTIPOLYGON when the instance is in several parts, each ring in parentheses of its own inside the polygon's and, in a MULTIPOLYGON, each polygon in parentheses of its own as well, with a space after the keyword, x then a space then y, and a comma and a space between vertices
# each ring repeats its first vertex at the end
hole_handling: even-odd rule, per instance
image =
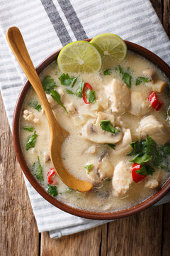
POLYGON ((91 43, 107 60, 123 60, 127 53, 127 46, 123 39, 111 33, 96 36, 91 43))

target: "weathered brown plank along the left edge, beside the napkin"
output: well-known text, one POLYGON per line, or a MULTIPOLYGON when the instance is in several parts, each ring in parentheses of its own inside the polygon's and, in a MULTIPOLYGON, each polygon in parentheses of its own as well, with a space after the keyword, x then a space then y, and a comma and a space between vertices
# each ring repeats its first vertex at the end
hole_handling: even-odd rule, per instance
POLYGON ((38 255, 39 235, 0 95, 0 255, 38 255))

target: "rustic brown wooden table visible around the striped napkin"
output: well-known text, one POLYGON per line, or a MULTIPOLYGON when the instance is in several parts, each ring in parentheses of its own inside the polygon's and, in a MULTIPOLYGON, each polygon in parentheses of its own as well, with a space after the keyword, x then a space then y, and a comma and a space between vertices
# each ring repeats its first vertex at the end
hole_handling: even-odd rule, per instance
MULTIPOLYGON (((170 36, 169 0, 152 4, 170 36)), ((0 110, 1 256, 170 255, 170 203, 57 240, 39 234, 1 98, 0 110)))

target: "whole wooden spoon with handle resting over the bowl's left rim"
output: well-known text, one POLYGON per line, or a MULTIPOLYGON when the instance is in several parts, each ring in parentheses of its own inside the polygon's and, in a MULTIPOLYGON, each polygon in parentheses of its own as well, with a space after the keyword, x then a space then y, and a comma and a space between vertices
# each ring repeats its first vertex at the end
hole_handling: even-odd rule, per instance
POLYGON ((87 181, 80 181, 78 178, 75 178, 69 174, 62 164, 61 146, 69 133, 60 127, 60 124, 52 113, 50 104, 47 101, 47 97, 42 88, 38 74, 36 73, 32 60, 30 59, 30 55, 28 54, 21 32, 16 27, 8 28, 8 31, 6 31, 6 38, 13 54, 16 56, 16 59, 30 81, 30 84, 33 85, 33 88, 45 110, 47 121, 50 126, 50 158, 57 175, 67 186, 69 186, 69 188, 73 188, 74 190, 81 192, 91 190, 91 188, 93 188, 91 183, 87 181))

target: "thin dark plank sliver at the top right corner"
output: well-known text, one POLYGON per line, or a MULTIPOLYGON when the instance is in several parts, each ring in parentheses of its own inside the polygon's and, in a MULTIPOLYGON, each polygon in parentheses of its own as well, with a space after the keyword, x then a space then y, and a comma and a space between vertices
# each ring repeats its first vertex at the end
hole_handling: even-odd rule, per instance
POLYGON ((163 26, 170 38, 170 1, 164 0, 163 26))

